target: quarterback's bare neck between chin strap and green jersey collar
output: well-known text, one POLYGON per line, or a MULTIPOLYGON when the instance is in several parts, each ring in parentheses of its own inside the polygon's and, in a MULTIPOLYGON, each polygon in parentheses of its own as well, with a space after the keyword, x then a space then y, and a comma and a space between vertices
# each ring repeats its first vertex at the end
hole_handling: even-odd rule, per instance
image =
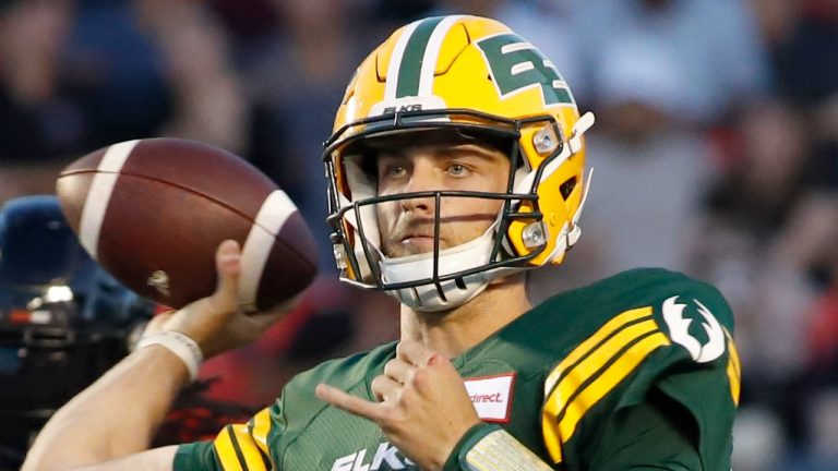
POLYGON ((524 278, 518 275, 492 283, 474 300, 444 313, 403 305, 402 339, 420 340, 448 358, 458 357, 532 307, 524 278))

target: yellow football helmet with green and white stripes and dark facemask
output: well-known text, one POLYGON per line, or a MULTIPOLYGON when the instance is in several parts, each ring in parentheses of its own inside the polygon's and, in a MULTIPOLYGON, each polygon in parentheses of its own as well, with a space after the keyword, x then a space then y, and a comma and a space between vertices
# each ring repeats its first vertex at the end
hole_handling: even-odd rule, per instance
MULTIPOLYGON (((342 279, 384 290, 423 311, 453 309, 491 279, 560 264, 578 239, 587 190, 583 134, 570 87, 535 46, 493 20, 438 16, 396 31, 358 68, 325 143, 330 224, 342 279), (379 247, 374 178, 364 143, 408 132, 456 131, 508 144, 506 193, 432 192, 440 197, 502 200, 482 241, 399 265, 379 247)), ((402 194, 399 198, 429 195, 402 194)), ((436 218, 439 221, 439 213, 436 218)), ((407 257, 404 257, 407 258, 407 257)))

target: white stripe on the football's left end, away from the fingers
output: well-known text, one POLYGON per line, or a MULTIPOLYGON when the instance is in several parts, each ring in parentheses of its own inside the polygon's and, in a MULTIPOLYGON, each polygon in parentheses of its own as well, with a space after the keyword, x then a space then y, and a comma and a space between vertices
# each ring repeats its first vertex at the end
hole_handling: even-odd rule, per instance
POLYGON ((91 191, 87 192, 87 198, 84 201, 84 208, 82 208, 79 239, 82 246, 94 258, 96 258, 101 222, 105 219, 105 212, 108 209, 113 186, 117 184, 119 172, 125 165, 128 156, 131 155, 139 142, 139 140, 125 141, 108 147, 101 157, 96 176, 93 177, 91 191))

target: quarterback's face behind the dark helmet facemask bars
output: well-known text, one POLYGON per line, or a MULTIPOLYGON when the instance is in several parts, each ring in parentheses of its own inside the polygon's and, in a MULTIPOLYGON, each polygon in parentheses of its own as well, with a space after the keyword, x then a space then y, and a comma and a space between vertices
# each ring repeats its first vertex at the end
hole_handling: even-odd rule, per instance
MULTIPOLYGON (((510 159, 475 144, 421 145, 379 154, 379 195, 422 191, 504 193, 510 159)), ((475 197, 442 197, 440 249, 469 242, 494 222, 503 202, 475 197)), ((382 251, 400 257, 433 251, 434 197, 398 200, 376 205, 382 251)))

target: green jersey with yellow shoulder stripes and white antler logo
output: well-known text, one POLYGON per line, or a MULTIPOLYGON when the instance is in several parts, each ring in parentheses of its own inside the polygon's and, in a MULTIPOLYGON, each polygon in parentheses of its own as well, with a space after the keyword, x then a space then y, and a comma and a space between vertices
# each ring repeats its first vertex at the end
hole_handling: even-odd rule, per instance
MULTIPOLYGON (((487 312, 486 315, 492 315, 487 312)), ((730 469, 740 365, 733 318, 713 287, 625 271, 549 299, 453 360, 478 415, 556 470, 730 469)), ((396 345, 323 363, 178 470, 417 469, 381 430, 320 401, 326 383, 374 400, 396 345)))

